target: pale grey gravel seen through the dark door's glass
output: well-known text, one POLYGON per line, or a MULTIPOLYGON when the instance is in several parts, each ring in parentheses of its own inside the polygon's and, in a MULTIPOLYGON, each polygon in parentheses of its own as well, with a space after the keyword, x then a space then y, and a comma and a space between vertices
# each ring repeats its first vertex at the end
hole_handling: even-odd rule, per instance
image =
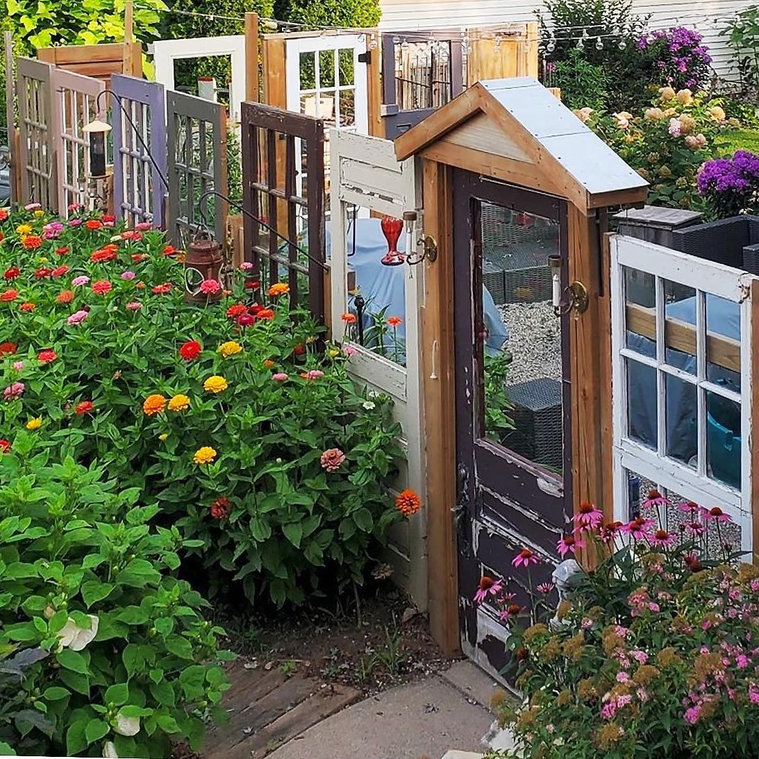
POLYGON ((548 302, 509 303, 498 307, 509 330, 505 348, 513 356, 509 385, 538 377, 562 378, 561 322, 548 302))

